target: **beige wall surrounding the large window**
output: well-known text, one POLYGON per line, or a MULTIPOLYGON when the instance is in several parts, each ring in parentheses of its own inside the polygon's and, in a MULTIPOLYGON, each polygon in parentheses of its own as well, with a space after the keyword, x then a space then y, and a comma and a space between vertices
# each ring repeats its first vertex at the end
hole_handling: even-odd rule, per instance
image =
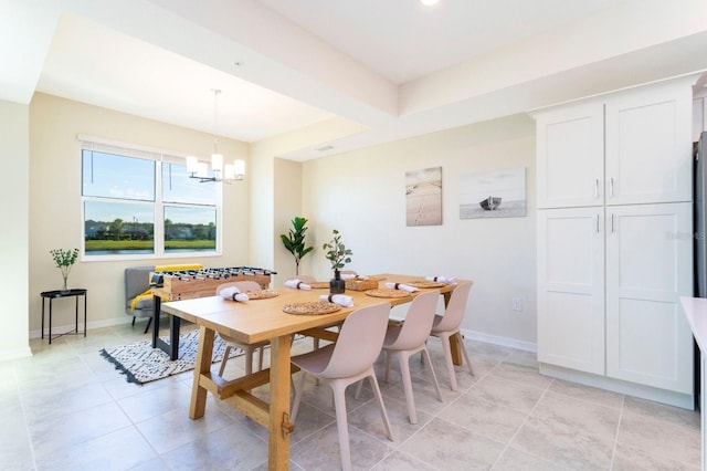
MULTIPOLYGON (((36 336, 41 321, 39 293, 61 286, 51 249, 78 248, 82 238, 81 145, 76 136, 104 139, 207 157, 213 136, 192 129, 36 94, 30 105, 30 217, 29 311, 30 334, 36 336)), ((4 146, 4 144, 3 144, 4 146)), ((219 150, 249 164, 249 145, 220 138, 219 150)), ((21 178, 21 172, 19 175, 21 178)), ((203 184, 214 185, 214 184, 203 184)), ((204 266, 250 265, 250 180, 223 185, 223 253, 199 259, 138 259, 95 262, 80 260, 68 278, 70 287, 88 290, 88 326, 99 327, 130 320, 124 312, 123 271, 126 266, 202 263, 204 266)), ((3 190, 4 191, 4 190, 3 190)), ((17 209, 15 209, 17 211, 17 209)), ((54 327, 73 323, 73 305, 55 307, 54 327)), ((55 304, 59 306, 59 303, 55 304)), ((73 327, 72 327, 73 328, 73 327)), ((27 333, 27 329, 25 329, 27 333)))

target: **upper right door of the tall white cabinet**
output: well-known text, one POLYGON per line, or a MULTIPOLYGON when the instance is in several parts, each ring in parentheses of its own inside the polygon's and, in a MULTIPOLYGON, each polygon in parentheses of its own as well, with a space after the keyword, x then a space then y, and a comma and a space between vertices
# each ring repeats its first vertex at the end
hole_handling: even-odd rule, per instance
POLYGON ((606 100, 606 205, 692 199, 693 94, 672 82, 606 100))

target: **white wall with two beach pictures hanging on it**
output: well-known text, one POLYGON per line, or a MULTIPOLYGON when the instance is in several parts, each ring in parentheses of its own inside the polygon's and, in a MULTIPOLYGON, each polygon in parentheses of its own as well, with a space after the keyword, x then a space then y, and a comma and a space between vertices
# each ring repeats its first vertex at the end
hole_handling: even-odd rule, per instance
MULTIPOLYGON (((474 281, 463 328, 482 338, 536 344, 535 123, 526 115, 351 151, 303 165, 313 274, 330 278, 319 249, 338 229, 359 273, 454 275, 474 281), (443 223, 405 227, 405 171, 442 167, 443 223), (526 168, 527 216, 458 217, 460 176, 526 168), (521 312, 511 299, 523 300, 521 312)), ((349 266, 347 266, 349 268, 349 266)))

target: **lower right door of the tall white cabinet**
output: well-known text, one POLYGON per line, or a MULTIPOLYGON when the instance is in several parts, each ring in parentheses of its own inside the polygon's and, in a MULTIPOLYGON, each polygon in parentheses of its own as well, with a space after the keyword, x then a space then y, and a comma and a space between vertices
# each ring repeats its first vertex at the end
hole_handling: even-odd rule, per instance
POLYGON ((606 208, 606 376, 693 393, 692 203, 606 208))

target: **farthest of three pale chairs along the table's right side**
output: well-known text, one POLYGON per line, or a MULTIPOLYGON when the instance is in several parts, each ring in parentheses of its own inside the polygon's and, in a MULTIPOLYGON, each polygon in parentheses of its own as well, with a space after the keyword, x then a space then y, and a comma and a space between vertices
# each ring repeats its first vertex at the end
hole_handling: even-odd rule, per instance
POLYGON ((450 302, 444 311, 444 315, 435 315, 432 323, 432 332, 430 335, 440 337, 442 341, 442 348, 444 349, 444 360, 446 362, 446 368, 450 375, 450 386, 453 391, 458 389, 456 383, 456 374, 454 373, 454 362, 452 360, 452 346, 450 344, 451 337, 456 337, 460 343, 462 354, 466 360, 466 367, 468 373, 474 375, 472 368, 472 362, 468 359, 468 353, 464 346, 464 338, 460 333, 460 325, 464 321, 464 312, 466 310, 466 302, 468 300, 468 293, 472 290, 473 282, 464 282, 458 284, 452 295, 450 302))

